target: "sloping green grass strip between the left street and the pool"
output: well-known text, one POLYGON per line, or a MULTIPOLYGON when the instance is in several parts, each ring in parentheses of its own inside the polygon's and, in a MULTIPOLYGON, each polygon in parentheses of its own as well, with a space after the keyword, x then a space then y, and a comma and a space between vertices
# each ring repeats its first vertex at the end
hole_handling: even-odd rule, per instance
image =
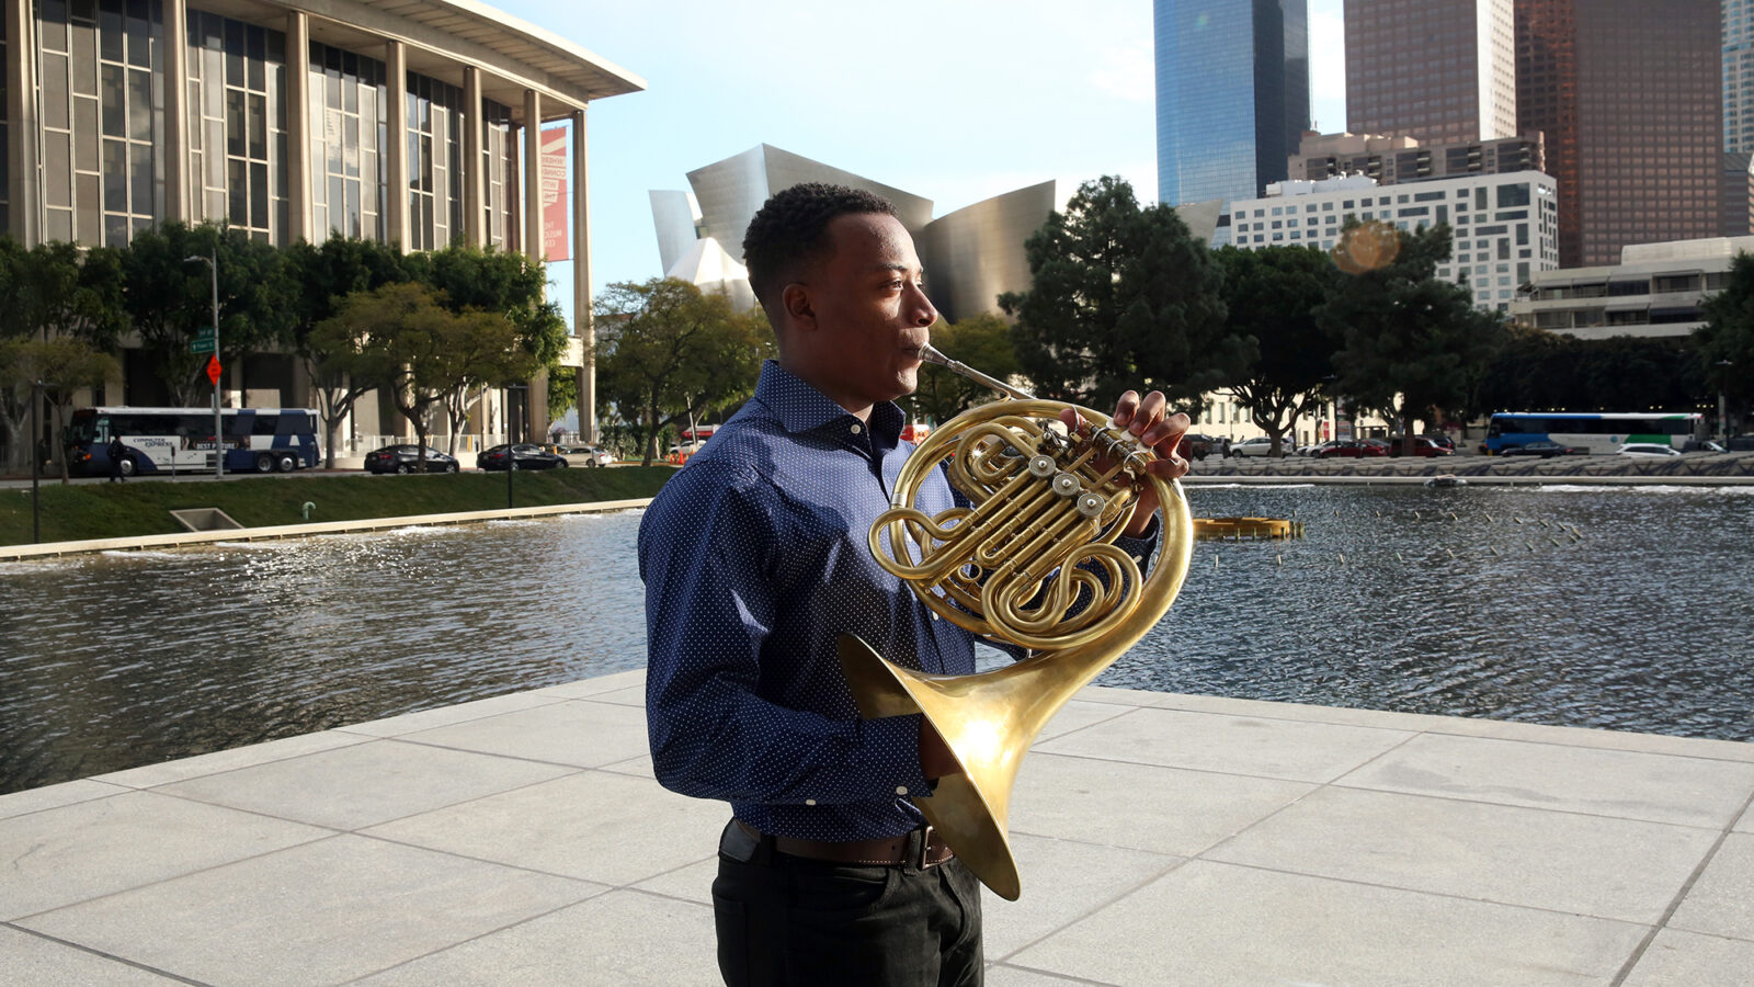
MULTIPOLYGON (((658 494, 670 465, 549 469, 512 476, 512 504, 586 504, 658 494)), ((128 483, 44 483, 42 541, 84 541, 175 534, 170 511, 219 508, 244 527, 356 522, 403 515, 495 511, 505 508, 503 472, 430 476, 254 476, 214 483, 130 479, 128 483), (312 504, 303 516, 303 504, 312 504)), ((30 544, 30 488, 0 490, 0 544, 30 544)))

